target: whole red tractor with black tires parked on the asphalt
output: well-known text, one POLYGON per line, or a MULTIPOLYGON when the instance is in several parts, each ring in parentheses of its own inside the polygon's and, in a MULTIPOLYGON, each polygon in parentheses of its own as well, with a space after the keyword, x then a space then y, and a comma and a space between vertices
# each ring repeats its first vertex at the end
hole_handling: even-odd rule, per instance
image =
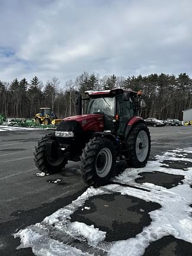
POLYGON ((144 167, 151 150, 145 121, 137 117, 140 93, 111 89, 87 91, 85 114, 76 92, 76 116, 66 117, 55 133, 44 136, 34 152, 41 172, 62 171, 68 161, 81 161, 82 177, 88 185, 103 185, 115 174, 116 158, 130 167, 144 167))

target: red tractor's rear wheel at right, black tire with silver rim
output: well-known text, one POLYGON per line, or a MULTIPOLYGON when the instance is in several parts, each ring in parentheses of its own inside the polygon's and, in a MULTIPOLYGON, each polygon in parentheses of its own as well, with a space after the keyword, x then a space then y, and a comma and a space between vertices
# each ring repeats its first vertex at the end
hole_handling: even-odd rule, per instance
POLYGON ((130 167, 145 167, 151 151, 151 136, 145 123, 136 124, 127 138, 128 158, 130 167))

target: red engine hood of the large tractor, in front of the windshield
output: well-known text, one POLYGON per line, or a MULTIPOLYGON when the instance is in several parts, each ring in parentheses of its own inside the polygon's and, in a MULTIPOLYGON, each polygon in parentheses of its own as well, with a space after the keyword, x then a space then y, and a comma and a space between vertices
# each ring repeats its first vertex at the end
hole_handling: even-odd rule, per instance
POLYGON ((78 116, 66 117, 62 121, 77 121, 81 124, 85 131, 92 130, 102 132, 104 130, 104 115, 103 114, 84 114, 78 116))

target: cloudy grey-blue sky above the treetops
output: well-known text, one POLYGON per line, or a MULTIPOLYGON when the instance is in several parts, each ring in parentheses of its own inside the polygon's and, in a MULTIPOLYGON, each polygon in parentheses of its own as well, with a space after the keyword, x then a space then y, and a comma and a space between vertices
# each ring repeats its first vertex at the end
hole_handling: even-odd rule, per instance
POLYGON ((0 80, 192 76, 191 0, 0 0, 0 80))

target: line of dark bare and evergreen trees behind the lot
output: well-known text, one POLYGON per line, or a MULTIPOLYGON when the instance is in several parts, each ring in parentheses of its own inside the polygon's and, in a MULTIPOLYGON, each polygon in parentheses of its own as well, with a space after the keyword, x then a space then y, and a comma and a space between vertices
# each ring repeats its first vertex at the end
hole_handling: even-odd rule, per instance
POLYGON ((46 84, 37 76, 27 81, 15 78, 12 82, 0 81, 0 114, 7 117, 33 118, 40 107, 51 107, 57 117, 75 114, 75 90, 82 95, 88 90, 124 88, 143 92, 146 107, 142 117, 183 119, 183 110, 192 107, 192 79, 186 73, 177 77, 161 73, 148 76, 103 76, 84 72, 75 80, 60 85, 53 77, 46 84))

